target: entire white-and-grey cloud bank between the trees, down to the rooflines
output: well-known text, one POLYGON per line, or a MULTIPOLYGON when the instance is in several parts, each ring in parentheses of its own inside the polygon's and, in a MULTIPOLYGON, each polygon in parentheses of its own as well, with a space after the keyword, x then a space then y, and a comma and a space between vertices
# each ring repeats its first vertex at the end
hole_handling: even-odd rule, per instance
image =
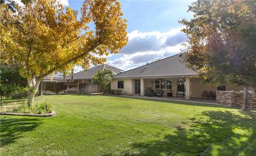
POLYGON ((121 58, 107 61, 109 65, 129 70, 157 58, 167 58, 180 53, 182 43, 187 42, 187 37, 181 31, 183 27, 171 29, 168 32, 139 32, 132 31, 127 34, 128 44, 119 52, 121 58))

